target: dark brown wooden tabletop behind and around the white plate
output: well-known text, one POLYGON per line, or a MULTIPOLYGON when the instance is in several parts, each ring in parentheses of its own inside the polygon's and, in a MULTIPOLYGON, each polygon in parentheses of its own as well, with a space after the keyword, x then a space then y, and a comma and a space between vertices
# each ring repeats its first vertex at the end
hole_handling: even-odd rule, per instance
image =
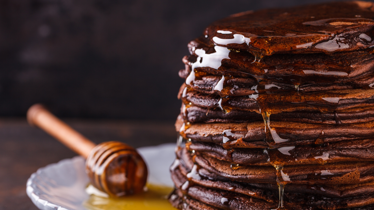
MULTIPOLYGON (((175 142, 171 121, 65 120, 95 143, 118 140, 136 148, 175 142)), ((25 119, 0 119, 0 210, 37 210, 26 195, 31 173, 76 156, 25 119)))

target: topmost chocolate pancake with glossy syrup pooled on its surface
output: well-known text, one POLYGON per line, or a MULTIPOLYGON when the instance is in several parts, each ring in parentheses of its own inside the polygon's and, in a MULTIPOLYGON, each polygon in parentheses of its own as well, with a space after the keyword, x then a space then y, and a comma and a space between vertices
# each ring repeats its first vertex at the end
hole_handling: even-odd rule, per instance
POLYGON ((338 52, 374 44, 374 5, 365 1, 237 13, 214 22, 202 38, 207 44, 254 52, 338 52))

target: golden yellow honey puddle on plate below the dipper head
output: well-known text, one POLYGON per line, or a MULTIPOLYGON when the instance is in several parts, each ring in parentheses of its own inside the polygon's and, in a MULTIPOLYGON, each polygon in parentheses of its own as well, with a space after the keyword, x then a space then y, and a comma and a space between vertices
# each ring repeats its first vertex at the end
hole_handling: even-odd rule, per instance
POLYGON ((168 201, 172 187, 147 183, 148 190, 122 198, 104 198, 90 195, 83 203, 88 210, 175 210, 168 201))

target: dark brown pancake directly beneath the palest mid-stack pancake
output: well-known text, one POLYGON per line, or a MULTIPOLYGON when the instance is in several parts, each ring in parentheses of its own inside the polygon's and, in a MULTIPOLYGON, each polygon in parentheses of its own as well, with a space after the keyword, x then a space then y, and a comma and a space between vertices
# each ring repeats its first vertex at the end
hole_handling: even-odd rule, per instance
POLYGON ((230 163, 252 166, 272 166, 268 162, 269 158, 276 160, 277 157, 281 157, 279 159, 282 161, 273 161, 273 163, 284 166, 374 161, 374 141, 371 139, 340 141, 324 145, 282 147, 273 150, 225 149, 215 143, 192 141, 188 144, 188 149, 194 150, 197 154, 208 155, 230 163))

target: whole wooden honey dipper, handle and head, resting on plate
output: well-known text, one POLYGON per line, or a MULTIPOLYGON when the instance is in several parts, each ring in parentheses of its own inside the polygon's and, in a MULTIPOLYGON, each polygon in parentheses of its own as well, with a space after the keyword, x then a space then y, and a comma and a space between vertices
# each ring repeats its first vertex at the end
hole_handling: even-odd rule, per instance
POLYGON ((111 197, 143 191, 148 176, 147 166, 131 146, 115 141, 95 145, 41 104, 28 109, 27 121, 86 158, 86 172, 97 189, 111 197))

